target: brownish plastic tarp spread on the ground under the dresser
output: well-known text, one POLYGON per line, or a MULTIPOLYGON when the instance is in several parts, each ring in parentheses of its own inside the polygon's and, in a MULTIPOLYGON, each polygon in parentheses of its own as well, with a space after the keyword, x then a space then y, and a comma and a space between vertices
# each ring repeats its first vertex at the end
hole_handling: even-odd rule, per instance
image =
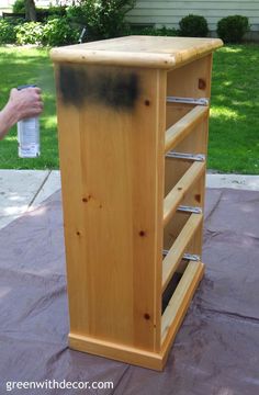
POLYGON ((0 230, 0 394, 8 381, 112 381, 18 394, 258 395, 259 193, 209 190, 205 278, 162 373, 67 347, 60 192, 0 230))

